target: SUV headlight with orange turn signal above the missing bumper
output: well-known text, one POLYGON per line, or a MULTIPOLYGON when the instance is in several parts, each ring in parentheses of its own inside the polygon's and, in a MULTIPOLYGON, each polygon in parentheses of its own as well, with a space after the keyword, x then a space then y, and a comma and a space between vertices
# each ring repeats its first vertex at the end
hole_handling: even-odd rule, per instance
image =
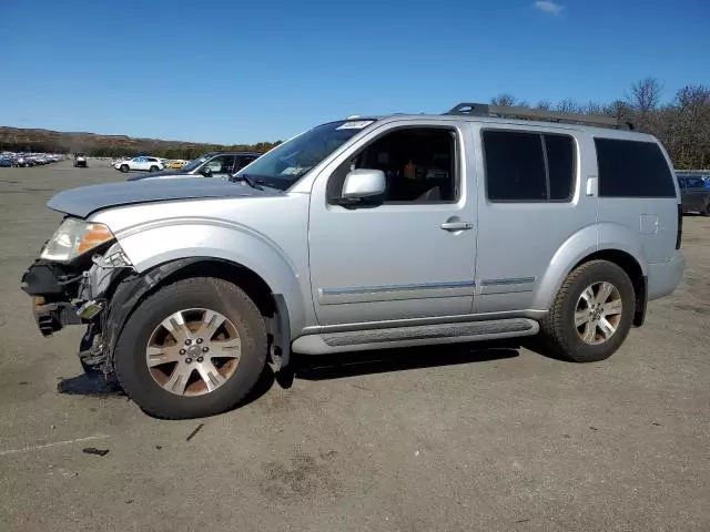
POLYGON ((40 258, 68 262, 115 237, 103 224, 67 218, 47 243, 40 258))

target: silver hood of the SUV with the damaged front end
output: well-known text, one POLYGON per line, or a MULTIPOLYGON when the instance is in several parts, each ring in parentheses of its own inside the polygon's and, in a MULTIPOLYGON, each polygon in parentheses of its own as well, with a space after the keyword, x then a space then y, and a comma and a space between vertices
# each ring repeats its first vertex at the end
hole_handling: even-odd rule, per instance
POLYGON ((138 203, 168 202, 195 198, 264 197, 281 195, 274 188, 263 191, 252 188, 246 183, 231 183, 226 180, 146 180, 105 185, 89 185, 60 192, 47 206, 52 211, 85 218, 91 213, 106 207, 138 203))

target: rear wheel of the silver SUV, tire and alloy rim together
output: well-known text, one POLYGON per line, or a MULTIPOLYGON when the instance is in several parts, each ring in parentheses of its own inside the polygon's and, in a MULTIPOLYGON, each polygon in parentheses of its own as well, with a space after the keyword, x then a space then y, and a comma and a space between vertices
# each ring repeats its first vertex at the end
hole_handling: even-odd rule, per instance
POLYGON ((540 338, 546 347, 571 361, 605 360, 626 340, 635 307, 633 284, 626 272, 607 260, 591 260, 562 283, 540 321, 540 338), (605 297, 607 291, 609 296, 605 297))

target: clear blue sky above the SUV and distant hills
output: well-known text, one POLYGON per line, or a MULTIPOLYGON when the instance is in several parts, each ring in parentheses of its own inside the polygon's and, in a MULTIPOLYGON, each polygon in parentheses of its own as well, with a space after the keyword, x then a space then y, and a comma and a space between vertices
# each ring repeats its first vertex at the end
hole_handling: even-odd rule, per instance
POLYGON ((0 125, 217 143, 710 84, 710 0, 0 0, 0 125))

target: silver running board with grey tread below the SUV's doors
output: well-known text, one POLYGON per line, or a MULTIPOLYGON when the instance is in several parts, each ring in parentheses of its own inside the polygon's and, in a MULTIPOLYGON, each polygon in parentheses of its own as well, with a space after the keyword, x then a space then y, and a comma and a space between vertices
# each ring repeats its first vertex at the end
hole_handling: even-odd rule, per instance
POLYGON ((526 318, 419 325, 307 335, 296 338, 292 349, 304 355, 327 355, 331 352, 366 351, 393 347, 498 340, 520 336, 535 336, 539 330, 540 326, 537 321, 526 318))

